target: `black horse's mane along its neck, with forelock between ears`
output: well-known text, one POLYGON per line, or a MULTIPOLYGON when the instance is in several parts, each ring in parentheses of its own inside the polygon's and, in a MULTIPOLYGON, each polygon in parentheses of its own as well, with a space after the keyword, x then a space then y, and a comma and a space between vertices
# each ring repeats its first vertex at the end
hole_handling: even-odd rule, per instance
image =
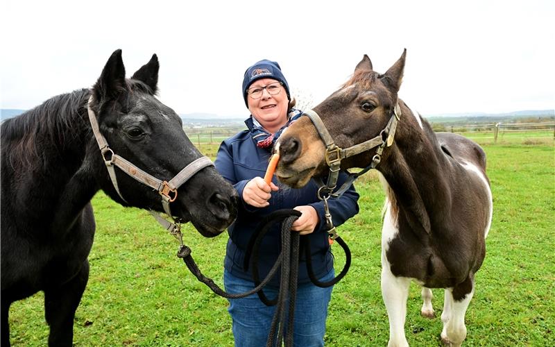
MULTIPOLYGON (((153 94, 148 85, 134 79, 126 80, 126 92, 153 94)), ((41 105, 8 119, 1 124, 3 155, 13 169, 35 171, 44 167, 52 150, 64 151, 67 144, 83 133, 87 119, 90 90, 83 88, 53 96, 41 105)), ((127 94, 128 95, 128 94, 127 94)), ((88 122, 88 121, 87 121, 88 122)))

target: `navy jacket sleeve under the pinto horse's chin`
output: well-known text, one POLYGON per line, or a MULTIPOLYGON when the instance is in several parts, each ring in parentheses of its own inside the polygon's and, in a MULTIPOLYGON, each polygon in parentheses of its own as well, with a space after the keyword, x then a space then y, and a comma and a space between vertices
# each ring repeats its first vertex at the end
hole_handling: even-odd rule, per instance
MULTIPOLYGON (((347 174, 342 171, 339 174, 337 186, 341 187, 347 177, 347 174)), ((339 196, 339 198, 329 198, 327 200, 327 205, 330 208, 330 214, 332 215, 334 226, 341 226, 341 224, 345 223, 345 221, 359 213, 358 200, 359 194, 355 190, 355 185, 350 185, 349 189, 347 189, 343 195, 339 196)), ((324 202, 318 201, 317 203, 311 203, 309 205, 311 205, 316 212, 318 212, 318 217, 320 217, 320 223, 314 231, 327 231, 324 202)))

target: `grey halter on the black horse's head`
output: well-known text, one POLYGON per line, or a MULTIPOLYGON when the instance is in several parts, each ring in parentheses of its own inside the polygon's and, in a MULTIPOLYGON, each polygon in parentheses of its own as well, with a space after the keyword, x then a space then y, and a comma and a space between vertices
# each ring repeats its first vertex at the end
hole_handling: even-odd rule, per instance
POLYGON ((151 174, 139 169, 134 164, 122 158, 121 156, 117 155, 110 149, 108 146, 108 142, 106 141, 105 137, 100 133, 99 123, 96 121, 96 115, 94 111, 90 107, 92 102, 92 96, 90 96, 89 101, 87 102, 87 112, 89 114, 89 121, 91 123, 92 133, 94 133, 94 138, 96 142, 99 144, 100 151, 102 153, 102 158, 104 159, 104 163, 106 168, 108 169, 108 174, 110 174, 110 180, 112 180, 112 185, 116 189, 117 194, 123 199, 123 201, 127 202, 125 198, 119 192, 119 187, 117 184, 116 178, 116 171, 114 166, 119 167, 121 171, 125 172, 129 176, 135 178, 140 183, 144 185, 148 185, 155 189, 160 196, 162 197, 162 207, 164 208, 164 212, 168 215, 169 218, 173 220, 173 223, 162 219, 159 214, 156 214, 152 210, 150 211, 153 217, 160 223, 164 228, 166 228, 172 235, 176 236, 180 239, 180 226, 176 224, 176 220, 173 219, 170 206, 169 204, 176 200, 178 196, 178 188, 191 177, 193 177, 198 171, 204 169, 205 167, 214 166, 214 163, 210 158, 206 156, 202 156, 192 162, 190 162, 185 168, 183 168, 179 173, 171 178, 171 180, 159 180, 155 178, 151 174), (108 158, 107 158, 108 155, 108 158))

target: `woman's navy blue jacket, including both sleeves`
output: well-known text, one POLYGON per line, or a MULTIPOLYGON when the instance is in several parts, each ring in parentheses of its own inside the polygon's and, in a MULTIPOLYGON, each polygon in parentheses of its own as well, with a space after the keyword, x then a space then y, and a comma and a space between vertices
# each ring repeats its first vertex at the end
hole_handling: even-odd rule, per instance
MULTIPOLYGON (((278 192, 272 192, 269 200, 270 205, 266 208, 254 208, 244 203, 243 189, 246 183, 256 176, 264 177, 268 160, 271 155, 270 149, 261 149, 256 146, 256 141, 251 136, 253 129, 252 118, 248 118, 245 123, 248 130, 241 131, 225 139, 220 145, 216 156, 216 169, 228 180, 239 193, 239 208, 237 219, 228 228, 228 246, 225 253, 225 269, 230 271, 234 276, 245 280, 253 280, 252 266, 245 271, 243 263, 246 255, 246 248, 250 237, 258 226, 259 221, 266 215, 275 210, 284 208, 295 208, 300 205, 313 206, 318 215, 320 222, 316 226, 316 230, 309 234, 311 260, 316 278, 321 278, 329 273, 333 268, 333 257, 330 244, 328 242, 327 230, 325 227, 324 205, 316 195, 318 186, 314 180, 301 189, 292 189, 282 185, 278 180, 273 178, 273 183, 280 187, 278 192)), ((341 173, 339 176, 338 186, 345 181, 346 174, 341 173)), ((353 217, 359 212, 357 203, 359 194, 355 191, 355 187, 351 187, 340 198, 330 198, 328 205, 334 226, 341 226, 347 219, 353 217)), ((276 223, 271 230, 268 231, 259 253, 259 278, 262 280, 266 277, 268 271, 275 263, 280 254, 280 223, 276 223)), ((341 229, 339 229, 341 233, 341 229)), ((270 285, 279 285, 278 276, 274 276, 270 285)), ((307 274, 305 255, 300 256, 299 264, 299 283, 309 282, 307 274)))

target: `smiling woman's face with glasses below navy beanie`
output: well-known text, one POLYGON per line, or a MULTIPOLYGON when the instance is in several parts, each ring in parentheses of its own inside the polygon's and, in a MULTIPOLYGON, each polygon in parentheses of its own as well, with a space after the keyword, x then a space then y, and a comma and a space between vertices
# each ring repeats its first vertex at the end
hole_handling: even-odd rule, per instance
POLYGON ((272 95, 268 92, 266 87, 272 85, 270 88, 275 88, 275 83, 279 82, 273 78, 259 79, 248 87, 249 95, 247 96, 248 110, 260 125, 272 134, 287 123, 287 106, 289 105, 287 92, 282 85, 277 84, 280 88, 277 94, 272 95), (262 95, 258 99, 253 99, 250 92, 257 89, 262 89, 262 95))

